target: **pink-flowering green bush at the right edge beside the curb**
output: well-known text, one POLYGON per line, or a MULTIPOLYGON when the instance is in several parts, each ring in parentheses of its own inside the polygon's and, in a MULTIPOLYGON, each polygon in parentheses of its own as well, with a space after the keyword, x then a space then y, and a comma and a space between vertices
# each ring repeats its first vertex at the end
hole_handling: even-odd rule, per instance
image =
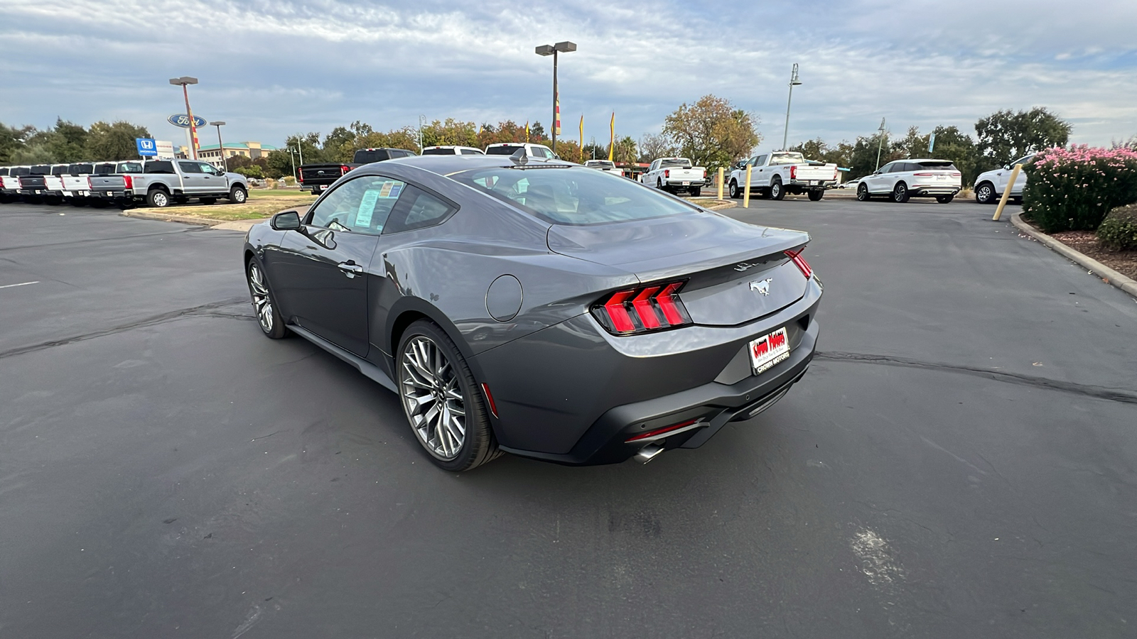
POLYGON ((1113 207, 1137 202, 1137 150, 1046 149, 1026 165, 1022 210, 1044 231, 1093 231, 1113 207))

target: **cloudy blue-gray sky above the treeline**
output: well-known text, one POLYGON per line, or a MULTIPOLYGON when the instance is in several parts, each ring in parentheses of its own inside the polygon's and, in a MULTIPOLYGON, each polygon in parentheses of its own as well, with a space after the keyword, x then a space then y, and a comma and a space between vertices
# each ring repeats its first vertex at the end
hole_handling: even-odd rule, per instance
MULTIPOLYGON (((443 2, 438 0, 26 0, 0 2, 0 122, 127 119, 180 140, 169 77, 230 141, 280 144, 360 119, 379 130, 456 117, 548 125, 562 40, 563 135, 658 132, 706 93, 789 139, 870 134, 881 117, 973 134, 998 109, 1045 106, 1073 142, 1137 134, 1137 0, 443 2)), ((210 132, 202 143, 214 142, 210 132)))

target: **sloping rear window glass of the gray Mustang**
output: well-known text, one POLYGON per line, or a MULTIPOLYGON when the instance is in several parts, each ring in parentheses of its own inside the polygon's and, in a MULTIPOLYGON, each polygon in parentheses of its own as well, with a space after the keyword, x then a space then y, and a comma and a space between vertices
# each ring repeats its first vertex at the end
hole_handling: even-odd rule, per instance
POLYGON ((606 224, 698 210, 655 189, 586 167, 493 167, 450 177, 549 224, 606 224))

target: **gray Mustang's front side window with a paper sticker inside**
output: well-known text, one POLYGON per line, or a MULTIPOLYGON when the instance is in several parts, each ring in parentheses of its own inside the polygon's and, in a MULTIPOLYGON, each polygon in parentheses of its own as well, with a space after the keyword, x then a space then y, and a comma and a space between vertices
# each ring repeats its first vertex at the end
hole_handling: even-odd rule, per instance
POLYGON ((340 184, 310 213, 313 226, 367 235, 383 232, 406 183, 381 175, 365 175, 340 184))

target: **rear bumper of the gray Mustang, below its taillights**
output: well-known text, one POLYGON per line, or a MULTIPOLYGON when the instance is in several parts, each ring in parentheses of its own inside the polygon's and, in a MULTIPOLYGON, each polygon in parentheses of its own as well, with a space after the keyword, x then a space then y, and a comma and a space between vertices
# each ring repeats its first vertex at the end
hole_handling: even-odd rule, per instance
POLYGON ((816 348, 820 298, 811 280, 802 299, 771 316, 657 333, 654 342, 624 350, 582 316, 483 352, 478 363, 498 406, 498 442, 514 455, 570 465, 620 463, 648 445, 702 446, 727 423, 769 408, 802 379, 816 348), (754 375, 748 343, 782 326, 789 358, 754 375), (691 421, 697 425, 682 432, 628 441, 691 421))

